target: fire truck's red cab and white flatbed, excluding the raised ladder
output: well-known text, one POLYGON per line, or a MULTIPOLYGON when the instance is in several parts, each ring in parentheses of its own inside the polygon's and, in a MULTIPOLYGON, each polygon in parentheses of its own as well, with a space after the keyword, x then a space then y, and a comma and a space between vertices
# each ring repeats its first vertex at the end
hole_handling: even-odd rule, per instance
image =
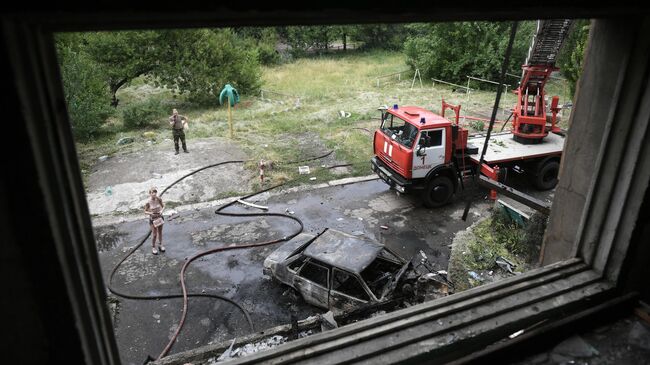
POLYGON ((416 107, 382 108, 381 126, 374 135, 372 170, 400 193, 421 191, 427 207, 448 203, 467 174, 482 173, 500 181, 504 168, 525 173, 535 187, 548 190, 557 184, 564 145, 561 132, 548 133, 542 143, 523 144, 511 132, 492 134, 483 163, 479 156, 485 135, 468 130, 441 115, 416 107))

